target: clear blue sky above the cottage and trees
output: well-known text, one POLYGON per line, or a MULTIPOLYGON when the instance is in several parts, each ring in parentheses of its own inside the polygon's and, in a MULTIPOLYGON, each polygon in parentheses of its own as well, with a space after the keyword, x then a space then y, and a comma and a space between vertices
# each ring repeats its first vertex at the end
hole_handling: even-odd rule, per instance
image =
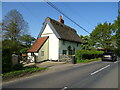
MULTIPOLYGON (((117 2, 52 2, 68 17, 73 19, 90 33, 95 26, 105 21, 113 23, 118 15, 117 2)), ((45 2, 3 2, 2 17, 8 11, 16 9, 29 24, 29 34, 37 38, 46 17, 55 20, 61 15, 45 2)), ((76 29, 79 35, 89 35, 63 16, 65 24, 76 29)))

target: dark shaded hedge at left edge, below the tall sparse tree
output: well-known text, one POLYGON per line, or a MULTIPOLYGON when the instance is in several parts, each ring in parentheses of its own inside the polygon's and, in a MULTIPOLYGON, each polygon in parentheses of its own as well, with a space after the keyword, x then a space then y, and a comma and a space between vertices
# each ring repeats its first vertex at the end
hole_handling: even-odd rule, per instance
POLYGON ((2 42, 2 72, 12 70, 12 54, 19 54, 21 44, 15 40, 3 40, 2 42))

